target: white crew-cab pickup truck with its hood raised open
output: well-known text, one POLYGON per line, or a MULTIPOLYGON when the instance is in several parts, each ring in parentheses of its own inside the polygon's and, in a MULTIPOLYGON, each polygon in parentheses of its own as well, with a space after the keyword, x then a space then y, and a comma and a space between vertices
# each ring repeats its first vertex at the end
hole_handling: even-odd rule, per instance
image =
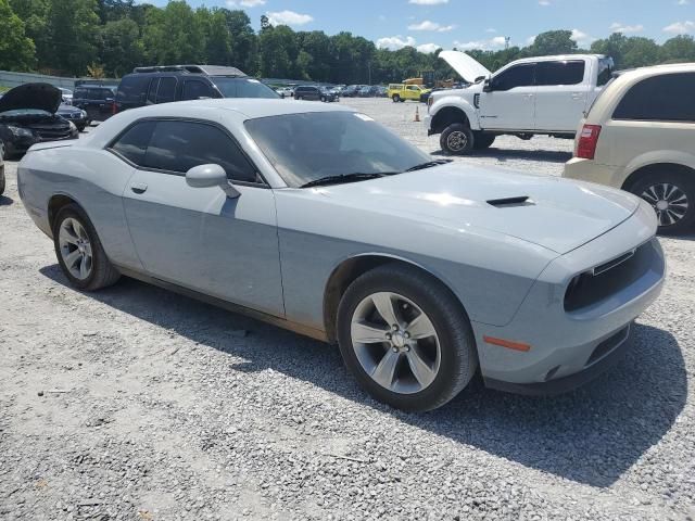
POLYGON ((599 54, 526 58, 494 74, 459 51, 439 58, 471 82, 428 99, 428 136, 441 134, 442 150, 456 155, 486 149, 505 134, 573 138, 614 68, 612 59, 599 54))

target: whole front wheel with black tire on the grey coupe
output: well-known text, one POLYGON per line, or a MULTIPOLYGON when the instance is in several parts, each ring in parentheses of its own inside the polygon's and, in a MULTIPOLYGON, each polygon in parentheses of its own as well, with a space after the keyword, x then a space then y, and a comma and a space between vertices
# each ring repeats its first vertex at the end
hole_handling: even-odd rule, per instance
POLYGON ((437 279, 409 266, 387 264, 358 277, 340 302, 337 326, 340 352, 357 382, 379 402, 399 409, 425 411, 441 407, 468 384, 478 367, 476 341, 460 303, 437 279), (397 313, 397 331, 393 327, 388 331, 389 320, 377 312, 372 296, 399 309, 393 312, 397 313), (419 313, 429 321, 419 319, 419 313), (421 334, 427 334, 426 330, 434 334, 408 340, 408 326, 417 334, 413 317, 418 317, 421 334), (383 333, 383 341, 353 343, 365 322, 374 329, 362 331, 376 334, 377 339, 383 333), (424 378, 415 376, 413 364, 424 378), (381 371, 382 383, 370 376, 379 367, 390 368, 381 371))

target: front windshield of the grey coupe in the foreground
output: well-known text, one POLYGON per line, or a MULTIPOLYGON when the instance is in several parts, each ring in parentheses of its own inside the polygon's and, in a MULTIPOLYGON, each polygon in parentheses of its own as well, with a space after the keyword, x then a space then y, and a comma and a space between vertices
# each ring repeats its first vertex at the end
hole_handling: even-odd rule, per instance
POLYGON ((293 188, 327 176, 402 173, 431 160, 369 116, 315 112, 249 119, 245 127, 293 188))

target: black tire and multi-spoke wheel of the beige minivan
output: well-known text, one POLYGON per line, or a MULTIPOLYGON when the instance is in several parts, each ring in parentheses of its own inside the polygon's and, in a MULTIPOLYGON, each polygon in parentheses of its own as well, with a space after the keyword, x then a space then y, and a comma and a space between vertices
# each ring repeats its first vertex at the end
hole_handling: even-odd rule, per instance
POLYGON ((657 165, 628 190, 654 207, 659 233, 679 234, 695 226, 695 171, 690 168, 657 165))

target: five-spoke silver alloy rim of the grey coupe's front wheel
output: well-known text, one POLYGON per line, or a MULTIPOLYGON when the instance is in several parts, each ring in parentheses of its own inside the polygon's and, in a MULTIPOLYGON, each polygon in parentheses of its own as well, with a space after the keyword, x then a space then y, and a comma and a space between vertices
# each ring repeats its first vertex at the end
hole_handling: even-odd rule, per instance
POLYGON ((434 326, 402 295, 379 292, 365 297, 353 313, 351 339, 364 371, 389 391, 418 393, 437 378, 442 354, 434 326))

